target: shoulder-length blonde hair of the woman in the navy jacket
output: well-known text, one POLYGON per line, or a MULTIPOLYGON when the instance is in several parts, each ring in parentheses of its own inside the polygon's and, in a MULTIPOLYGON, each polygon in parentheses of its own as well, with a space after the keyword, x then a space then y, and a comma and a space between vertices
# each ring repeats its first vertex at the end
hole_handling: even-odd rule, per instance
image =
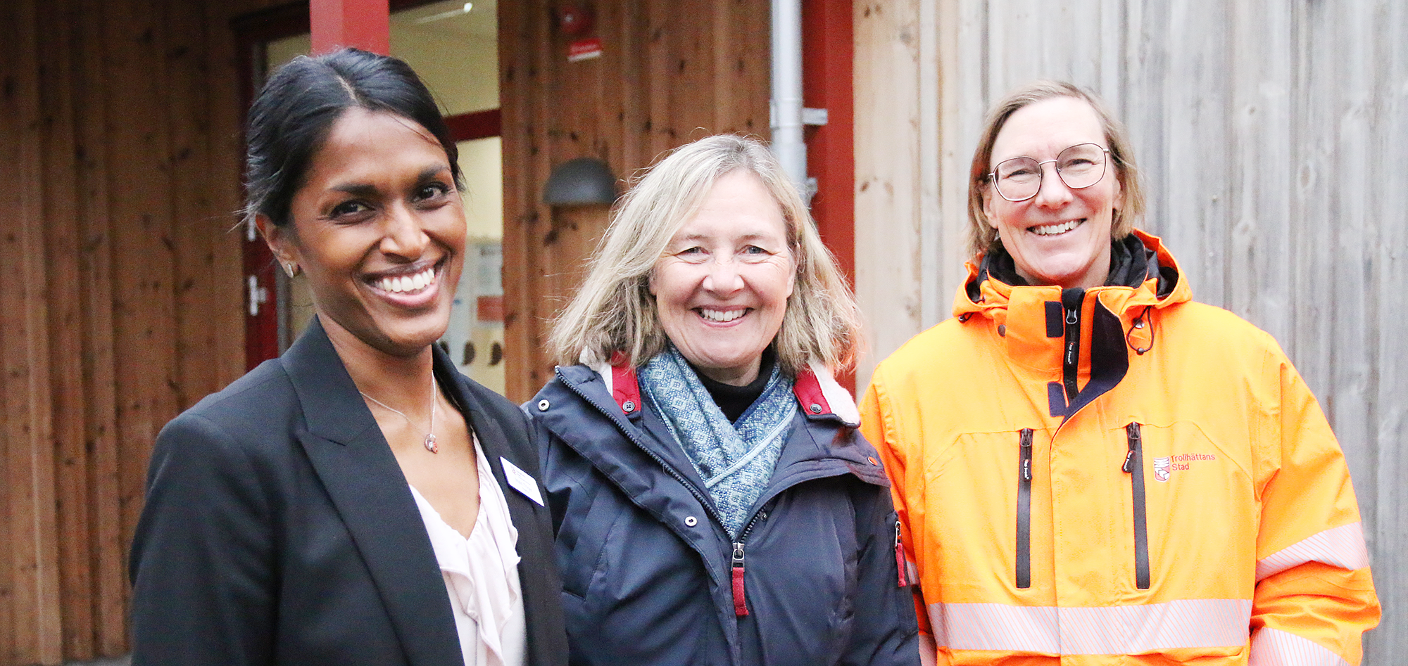
POLYGON ((714 183, 736 170, 758 176, 787 223, 797 280, 773 339, 783 370, 796 375, 812 361, 832 370, 855 363, 860 346, 856 301, 817 235, 807 204, 766 145, 735 135, 708 136, 673 150, 621 198, 582 289, 553 322, 549 346, 558 363, 610 361, 625 354, 639 367, 665 350, 650 274, 714 183))

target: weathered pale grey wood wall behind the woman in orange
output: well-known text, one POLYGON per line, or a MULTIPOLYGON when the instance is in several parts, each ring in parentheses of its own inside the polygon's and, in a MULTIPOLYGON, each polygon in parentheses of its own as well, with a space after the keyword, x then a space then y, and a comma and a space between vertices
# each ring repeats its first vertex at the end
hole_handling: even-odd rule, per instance
POLYGON ((856 0, 855 13, 867 363, 948 316, 988 104, 1035 77, 1094 89, 1131 129, 1150 194, 1142 226, 1195 298, 1273 333, 1319 396, 1384 603, 1364 663, 1401 663, 1408 3, 856 0))

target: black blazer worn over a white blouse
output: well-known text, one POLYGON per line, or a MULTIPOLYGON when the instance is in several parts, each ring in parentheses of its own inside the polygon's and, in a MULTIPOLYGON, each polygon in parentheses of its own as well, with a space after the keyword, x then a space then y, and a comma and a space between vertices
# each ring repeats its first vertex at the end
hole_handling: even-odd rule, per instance
MULTIPOLYGON (((567 662, 548 509, 524 413, 435 350, 518 530, 528 662, 567 662), (538 492, 542 493, 541 483, 538 492)), ((401 468, 317 320, 156 438, 132 540, 132 665, 463 666, 401 468)))

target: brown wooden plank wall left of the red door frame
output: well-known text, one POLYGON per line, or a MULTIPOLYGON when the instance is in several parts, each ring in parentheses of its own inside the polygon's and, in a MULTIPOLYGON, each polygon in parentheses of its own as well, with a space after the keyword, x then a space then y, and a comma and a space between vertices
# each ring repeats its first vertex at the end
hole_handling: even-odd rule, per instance
POLYGON ((0 665, 127 651, 152 440, 244 371, 228 21, 259 4, 0 3, 0 665))

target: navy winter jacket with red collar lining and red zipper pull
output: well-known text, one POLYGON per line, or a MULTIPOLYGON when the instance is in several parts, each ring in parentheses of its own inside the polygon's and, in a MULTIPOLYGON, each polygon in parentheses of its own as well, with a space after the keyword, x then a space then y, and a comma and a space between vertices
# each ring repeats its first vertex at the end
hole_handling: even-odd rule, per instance
POLYGON ((586 365, 558 368, 525 405, 572 663, 919 663, 888 482, 829 375, 796 382, 797 423, 735 544, 635 374, 603 372, 610 389, 586 365), (739 573, 746 610, 735 607, 739 573))

